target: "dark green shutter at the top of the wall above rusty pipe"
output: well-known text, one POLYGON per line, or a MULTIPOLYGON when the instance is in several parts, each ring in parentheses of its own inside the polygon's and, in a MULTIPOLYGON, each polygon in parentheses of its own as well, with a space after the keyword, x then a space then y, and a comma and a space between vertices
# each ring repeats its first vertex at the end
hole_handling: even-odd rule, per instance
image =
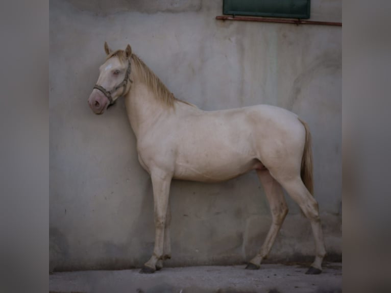
POLYGON ((223 14, 307 19, 310 0, 223 0, 223 14))

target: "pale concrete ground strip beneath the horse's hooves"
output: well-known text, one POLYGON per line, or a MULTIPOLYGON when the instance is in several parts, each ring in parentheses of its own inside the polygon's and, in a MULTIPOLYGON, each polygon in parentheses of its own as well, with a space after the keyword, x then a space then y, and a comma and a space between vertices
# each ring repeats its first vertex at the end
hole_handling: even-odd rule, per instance
POLYGON ((341 263, 325 264, 320 275, 305 275, 307 267, 301 265, 262 264, 257 271, 244 267, 167 267, 152 275, 139 274, 139 269, 54 273, 49 289, 53 293, 341 292, 341 263))

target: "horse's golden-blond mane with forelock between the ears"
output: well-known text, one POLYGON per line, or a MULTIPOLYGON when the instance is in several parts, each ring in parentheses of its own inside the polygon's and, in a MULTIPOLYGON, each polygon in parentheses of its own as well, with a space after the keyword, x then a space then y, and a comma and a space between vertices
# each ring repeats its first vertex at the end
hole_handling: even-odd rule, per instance
MULTIPOLYGON (((126 53, 124 50, 117 50, 110 53, 106 60, 110 59, 113 56, 117 56, 120 62, 125 62, 127 60, 126 53)), ((155 94, 156 99, 159 99, 164 105, 169 107, 174 107, 175 102, 182 102, 187 105, 196 107, 195 105, 177 99, 172 92, 170 92, 167 87, 160 81, 160 79, 154 74, 154 72, 146 66, 146 64, 136 55, 132 54, 133 65, 132 70, 137 70, 138 77, 141 82, 144 82, 155 94)))

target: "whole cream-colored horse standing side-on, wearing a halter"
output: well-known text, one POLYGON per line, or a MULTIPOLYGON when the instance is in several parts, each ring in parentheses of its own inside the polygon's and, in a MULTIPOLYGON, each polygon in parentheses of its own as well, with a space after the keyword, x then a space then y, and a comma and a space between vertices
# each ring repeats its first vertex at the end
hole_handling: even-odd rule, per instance
POLYGON ((311 221, 316 256, 307 274, 320 274, 326 254, 318 205, 312 197, 312 154, 307 125, 287 110, 258 105, 203 111, 178 100, 135 54, 112 52, 88 99, 102 114, 125 97, 137 138, 138 159, 151 175, 155 211, 155 248, 141 273, 153 273, 171 257, 169 188, 172 179, 223 181, 256 170, 273 223, 259 253, 246 268, 258 269, 273 246, 288 208, 282 187, 311 221))

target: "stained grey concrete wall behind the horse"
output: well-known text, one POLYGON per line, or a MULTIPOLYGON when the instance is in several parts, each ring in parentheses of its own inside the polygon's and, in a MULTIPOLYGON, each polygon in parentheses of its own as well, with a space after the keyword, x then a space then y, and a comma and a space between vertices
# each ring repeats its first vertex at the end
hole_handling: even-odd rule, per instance
MULTIPOLYGON (((311 1, 311 19, 341 21, 341 1, 311 1)), ((50 2, 51 270, 127 268, 154 243, 151 180, 137 160, 124 101, 97 116, 87 98, 104 41, 133 52, 179 99, 205 110, 271 104, 313 136, 315 197, 329 254, 341 254, 341 28, 215 20, 222 0, 50 2)), ((166 266, 250 259, 271 224, 255 173, 174 181, 166 266)), ((309 260, 309 222, 289 214, 270 261, 309 260)))

